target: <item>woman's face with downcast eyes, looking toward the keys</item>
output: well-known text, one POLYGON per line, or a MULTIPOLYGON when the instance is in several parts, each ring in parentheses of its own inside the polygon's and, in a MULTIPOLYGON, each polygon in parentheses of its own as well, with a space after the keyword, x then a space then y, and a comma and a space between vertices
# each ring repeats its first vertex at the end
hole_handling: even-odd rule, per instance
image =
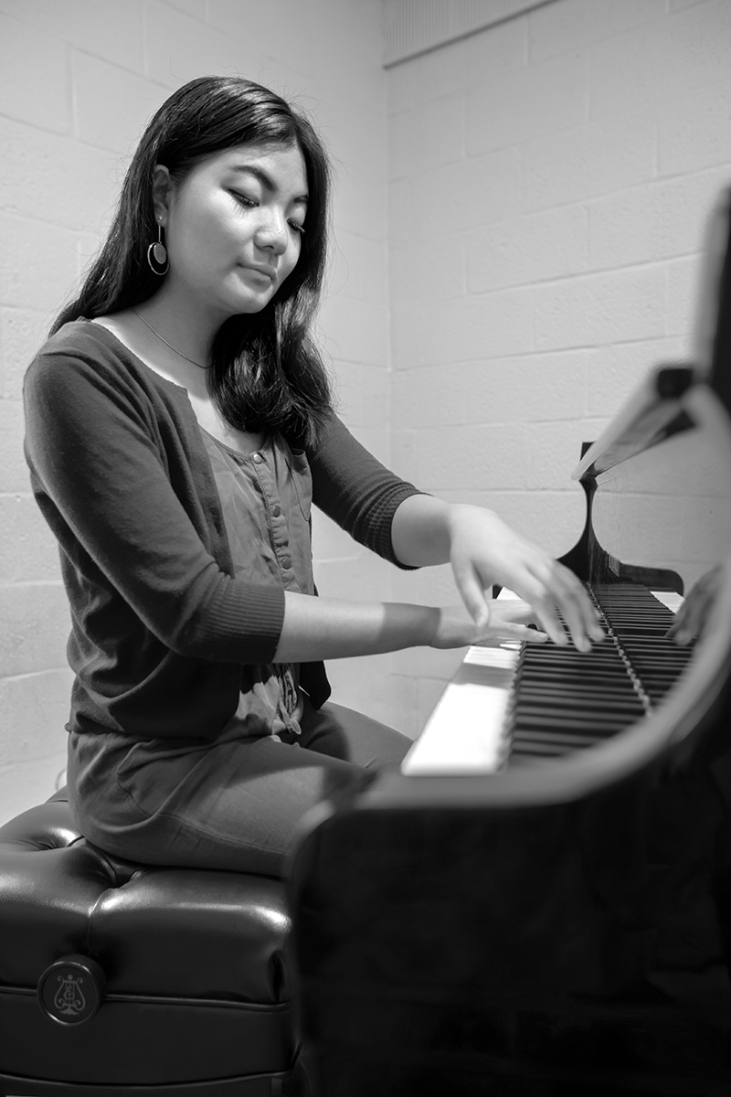
MULTIPOLYGON (((160 172, 164 169, 157 169, 160 172)), ((307 210, 296 145, 239 145, 171 186, 162 212, 169 290, 221 321, 259 313, 294 270, 307 210)))

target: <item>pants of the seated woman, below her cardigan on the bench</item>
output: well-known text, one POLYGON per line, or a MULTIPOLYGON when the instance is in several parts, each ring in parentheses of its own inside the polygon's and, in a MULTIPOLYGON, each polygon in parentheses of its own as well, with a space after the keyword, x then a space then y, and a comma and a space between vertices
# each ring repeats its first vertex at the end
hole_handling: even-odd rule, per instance
POLYGON ((332 703, 307 704, 300 724, 301 735, 286 742, 72 734, 68 788, 78 826, 133 861, 282 877, 307 812, 364 768, 398 767, 411 746, 332 703))

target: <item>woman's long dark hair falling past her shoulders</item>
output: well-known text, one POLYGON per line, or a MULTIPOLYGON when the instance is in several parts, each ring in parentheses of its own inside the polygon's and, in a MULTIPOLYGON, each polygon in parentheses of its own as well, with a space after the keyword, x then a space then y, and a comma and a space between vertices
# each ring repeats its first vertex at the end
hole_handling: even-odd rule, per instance
POLYGON ((147 262, 147 248, 157 239, 157 163, 180 184, 204 157, 250 142, 296 145, 301 151, 307 231, 297 265, 265 308, 221 325, 208 387, 237 429, 278 431, 295 444, 313 445, 331 407, 328 374, 310 335, 325 265, 330 166, 309 120, 261 84, 240 77, 201 77, 162 104, 129 165, 106 241, 52 333, 81 316, 93 319, 140 305, 159 290, 160 279, 147 262))

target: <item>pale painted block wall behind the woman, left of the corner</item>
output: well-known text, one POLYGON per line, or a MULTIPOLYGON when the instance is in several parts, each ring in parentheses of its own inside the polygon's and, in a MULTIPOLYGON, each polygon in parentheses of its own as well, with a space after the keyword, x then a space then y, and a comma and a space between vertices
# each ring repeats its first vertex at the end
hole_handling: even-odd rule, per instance
MULTIPOLYGON (((147 118, 206 72, 295 95, 323 132, 336 170, 336 248, 322 340, 343 417, 388 457, 377 0, 0 0, 0 822, 53 791, 70 690, 56 546, 22 454, 22 376, 94 253, 147 118)), ((323 592, 344 596, 355 577, 365 597, 375 592, 378 563, 365 550, 327 521, 315 535, 323 592)), ((362 672, 349 665, 333 678, 357 703, 362 672)))

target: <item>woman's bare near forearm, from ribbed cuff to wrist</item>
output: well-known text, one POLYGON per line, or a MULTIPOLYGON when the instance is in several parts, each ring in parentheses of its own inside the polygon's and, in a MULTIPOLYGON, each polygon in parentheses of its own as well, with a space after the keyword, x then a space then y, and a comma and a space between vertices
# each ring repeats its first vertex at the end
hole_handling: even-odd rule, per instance
POLYGON ((275 663, 377 655, 431 644, 439 610, 404 602, 346 602, 285 591, 275 663))

